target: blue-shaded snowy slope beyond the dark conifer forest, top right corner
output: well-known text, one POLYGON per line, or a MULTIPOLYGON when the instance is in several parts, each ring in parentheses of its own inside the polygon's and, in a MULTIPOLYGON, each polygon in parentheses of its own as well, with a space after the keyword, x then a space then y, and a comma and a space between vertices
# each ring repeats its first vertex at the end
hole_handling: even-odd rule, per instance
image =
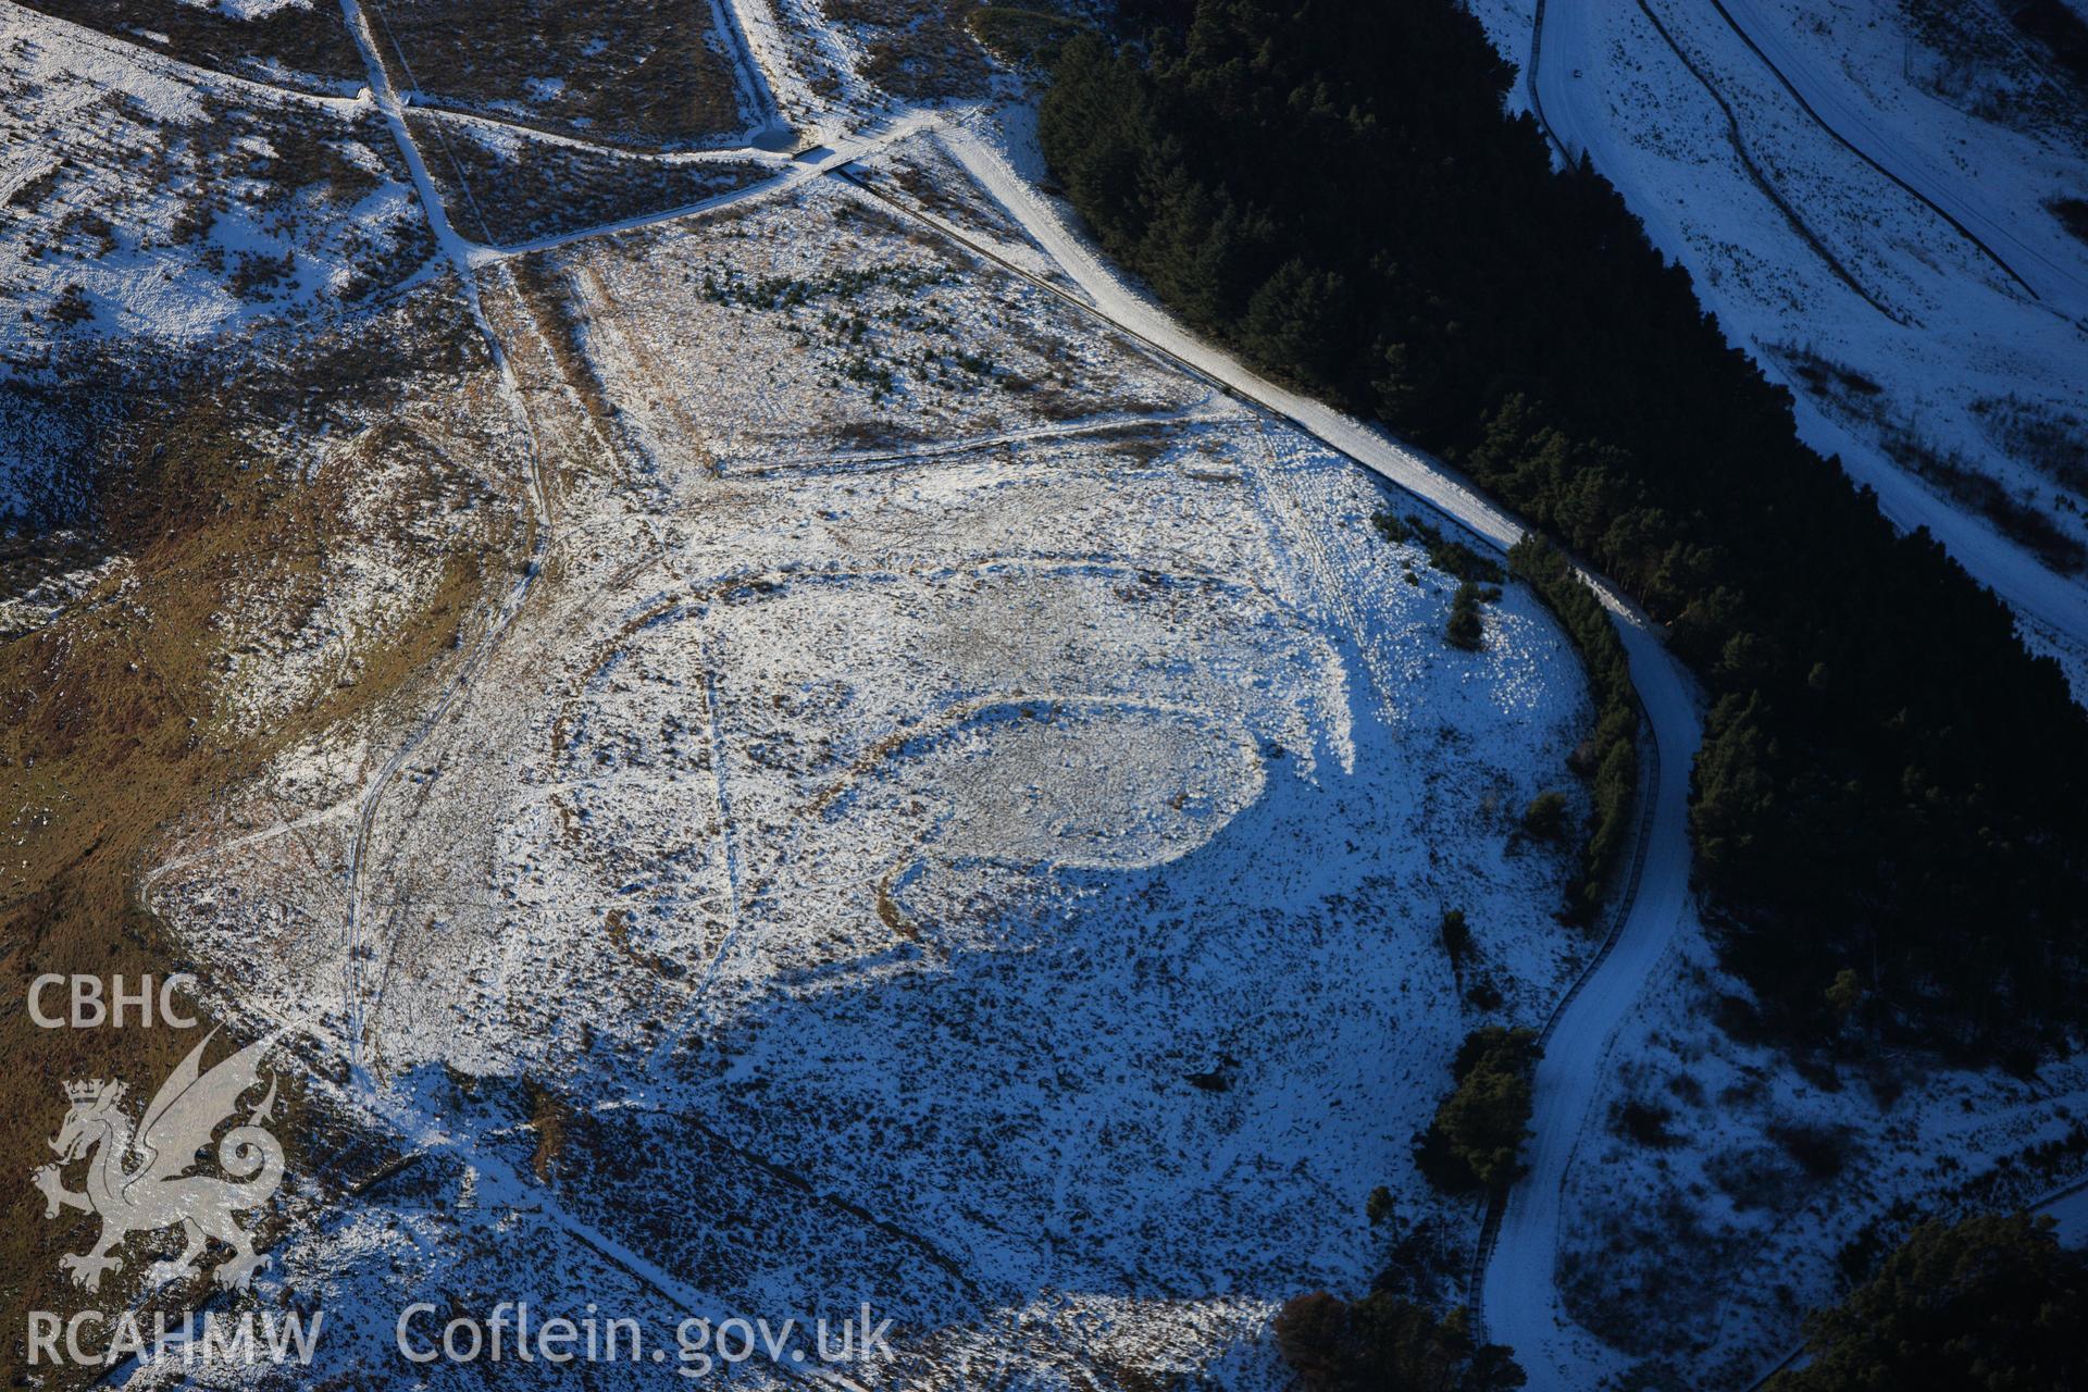
POLYGON ((1794 388, 1808 442, 2084 689, 2088 242, 2059 207, 2088 190, 2080 90, 1982 6, 1472 8, 1522 69, 1516 100, 1794 388))

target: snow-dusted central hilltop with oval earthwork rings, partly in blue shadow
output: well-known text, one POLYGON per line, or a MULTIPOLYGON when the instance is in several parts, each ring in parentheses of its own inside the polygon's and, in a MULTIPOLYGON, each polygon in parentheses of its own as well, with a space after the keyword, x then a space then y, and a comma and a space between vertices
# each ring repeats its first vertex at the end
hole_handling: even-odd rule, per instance
POLYGON ((528 603, 382 797, 307 741, 152 879, 228 1008, 443 1135, 290 1269, 555 1298, 597 1244, 689 1309, 871 1298, 927 1386, 1203 1367, 1401 1233, 1453 1281, 1411 1137, 1591 947, 1518 829, 1587 720, 1533 597, 1453 649, 1372 524, 1409 501, 837 179, 484 305, 553 480, 528 603), (1009 1342, 1052 1292, 1117 1342, 1009 1342))

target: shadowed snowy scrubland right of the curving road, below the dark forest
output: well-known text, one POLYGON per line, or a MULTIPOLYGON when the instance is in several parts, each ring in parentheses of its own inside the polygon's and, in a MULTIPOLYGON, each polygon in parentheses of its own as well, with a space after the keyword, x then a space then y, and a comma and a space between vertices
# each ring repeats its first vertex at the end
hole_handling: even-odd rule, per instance
POLYGON ((2015 1079, 1858 1039, 1794 1054, 1750 1023, 1689 933, 1618 1027, 1562 1196, 1558 1283, 1599 1336, 1579 1344, 1591 1375, 1752 1386, 1915 1221, 2080 1175, 2088 1060, 2015 1079))

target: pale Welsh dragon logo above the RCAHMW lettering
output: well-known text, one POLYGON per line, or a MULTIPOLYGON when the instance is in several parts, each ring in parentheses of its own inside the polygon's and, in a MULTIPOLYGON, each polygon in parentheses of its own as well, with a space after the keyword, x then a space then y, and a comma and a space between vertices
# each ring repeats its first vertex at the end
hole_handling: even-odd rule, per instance
POLYGON ((259 1208, 282 1183, 282 1146, 261 1129, 276 1110, 274 1079, 244 1125, 232 1127, 217 1142, 217 1165, 232 1179, 188 1171, 196 1165, 196 1152, 211 1144, 219 1123, 228 1121, 238 1110, 240 1098, 259 1085, 261 1056, 276 1043, 276 1035, 248 1043, 203 1073, 203 1050, 215 1035, 215 1029, 205 1035, 203 1043, 161 1083, 136 1133, 132 1119, 121 1110, 127 1091, 123 1083, 96 1079, 65 1085, 65 1100, 73 1106, 50 1142, 58 1152, 58 1165, 40 1167, 31 1179, 44 1192, 46 1219, 58 1217, 61 1208, 79 1208, 102 1219, 102 1235, 88 1252, 58 1258, 58 1267, 71 1271, 75 1283, 98 1290, 104 1271, 123 1267, 115 1250, 125 1238, 175 1223, 182 1225, 188 1246, 173 1261, 155 1263, 148 1273, 152 1283, 192 1273, 209 1238, 232 1248, 232 1256, 213 1271, 213 1279, 223 1288, 244 1290, 255 1271, 269 1265, 267 1256, 255 1252, 253 1235, 232 1215, 259 1208), (90 1152, 94 1158, 88 1162, 86 1190, 75 1194, 65 1187, 61 1167, 90 1152))

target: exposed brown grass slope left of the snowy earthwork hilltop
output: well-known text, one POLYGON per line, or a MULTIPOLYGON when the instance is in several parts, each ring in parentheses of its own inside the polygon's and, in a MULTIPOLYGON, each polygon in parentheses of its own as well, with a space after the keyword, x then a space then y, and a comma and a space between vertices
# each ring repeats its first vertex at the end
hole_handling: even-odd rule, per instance
MULTIPOLYGON (((251 392, 223 380, 140 392, 94 470, 98 538, 125 557, 123 566, 52 624, 0 643, 0 806, 10 816, 0 960, 17 983, 15 1004, 0 1012, 0 1048, 13 1062, 0 1077, 0 1154, 19 1167, 44 1154, 44 1137, 63 1114, 63 1081, 119 1077, 146 1089, 196 1043, 194 1033, 171 1029, 44 1031, 21 1008, 19 991, 40 973, 136 981, 190 968, 136 895, 161 829, 259 772, 288 743, 432 678, 451 634, 480 601, 478 547, 516 543, 491 518, 489 530, 459 532, 455 551, 441 557, 432 599, 384 632, 363 634, 367 655, 353 687, 315 687, 259 735, 242 733, 230 716, 226 668, 234 649, 248 634, 303 622, 319 601, 328 547, 351 545, 342 493, 355 461, 315 480, 296 478, 271 467, 269 436, 255 426, 288 419, 288 403, 322 382, 336 401, 374 409, 401 397, 401 369, 386 371, 370 355, 416 355, 397 340, 372 342, 378 338, 363 326, 345 334, 336 353, 269 363, 251 392), (284 415, 263 413, 269 403, 284 415)), ((464 365, 468 353, 455 338, 420 346, 420 369, 464 365)), ((372 432, 374 447, 413 470, 401 511, 416 509, 413 493, 445 486, 426 478, 443 451, 416 449, 411 434, 403 426, 372 432)), ((290 1127, 284 1142, 294 1142, 290 1127)), ((42 1198, 10 1183, 0 1223, 8 1325, 19 1331, 25 1309, 81 1309, 86 1298, 63 1281, 56 1258, 84 1250, 96 1219, 67 1213, 46 1221, 42 1198)), ((144 1267, 136 1256, 117 1273, 113 1294, 104 1283, 102 1304, 129 1294, 144 1267)), ((10 1350, 0 1363, 15 1357, 10 1350)))

